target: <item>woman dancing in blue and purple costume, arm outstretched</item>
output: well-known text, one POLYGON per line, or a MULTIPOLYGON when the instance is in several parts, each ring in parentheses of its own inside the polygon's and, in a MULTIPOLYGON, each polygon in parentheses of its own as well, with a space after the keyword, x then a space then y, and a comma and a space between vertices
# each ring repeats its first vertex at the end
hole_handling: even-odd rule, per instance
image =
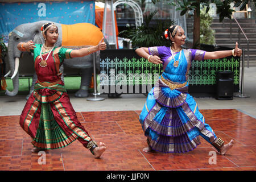
POLYGON ((186 36, 183 28, 174 25, 163 33, 172 46, 141 47, 139 56, 150 63, 163 64, 163 73, 148 93, 139 121, 147 137, 144 152, 188 152, 200 144, 199 136, 212 144, 224 155, 233 146, 233 140, 224 144, 188 93, 188 72, 192 60, 220 59, 226 56, 241 56, 242 50, 206 52, 199 49, 183 49, 186 36))

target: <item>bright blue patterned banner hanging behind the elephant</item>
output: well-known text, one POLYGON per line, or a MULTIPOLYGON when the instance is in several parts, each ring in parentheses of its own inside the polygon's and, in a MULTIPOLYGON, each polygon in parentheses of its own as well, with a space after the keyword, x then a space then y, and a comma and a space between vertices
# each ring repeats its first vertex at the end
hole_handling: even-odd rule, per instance
POLYGON ((94 1, 51 1, 0 3, 0 36, 8 42, 9 32, 20 24, 49 20, 62 24, 95 24, 94 1))

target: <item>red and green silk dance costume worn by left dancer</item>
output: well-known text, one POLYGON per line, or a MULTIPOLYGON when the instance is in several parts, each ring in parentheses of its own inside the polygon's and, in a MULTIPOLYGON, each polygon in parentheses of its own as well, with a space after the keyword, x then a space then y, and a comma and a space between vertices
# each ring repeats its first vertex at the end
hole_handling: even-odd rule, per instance
MULTIPOLYGON (((20 115, 20 126, 32 137, 32 144, 37 148, 62 148, 76 139, 86 147, 92 139, 77 119, 59 72, 63 60, 70 58, 72 49, 53 48, 47 66, 41 67, 42 45, 35 46, 31 52, 34 52, 38 80, 20 115)), ((43 59, 48 53, 42 53, 43 59)))

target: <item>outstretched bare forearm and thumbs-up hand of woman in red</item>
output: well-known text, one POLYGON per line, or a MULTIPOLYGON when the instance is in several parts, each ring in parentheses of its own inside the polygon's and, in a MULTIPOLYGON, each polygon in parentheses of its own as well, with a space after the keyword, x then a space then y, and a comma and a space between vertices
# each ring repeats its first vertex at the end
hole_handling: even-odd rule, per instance
POLYGON ((82 56, 89 55, 90 53, 93 53, 96 51, 102 51, 105 49, 106 49, 106 43, 104 42, 104 38, 102 38, 97 46, 85 47, 85 48, 71 51, 71 57, 82 57, 82 56))

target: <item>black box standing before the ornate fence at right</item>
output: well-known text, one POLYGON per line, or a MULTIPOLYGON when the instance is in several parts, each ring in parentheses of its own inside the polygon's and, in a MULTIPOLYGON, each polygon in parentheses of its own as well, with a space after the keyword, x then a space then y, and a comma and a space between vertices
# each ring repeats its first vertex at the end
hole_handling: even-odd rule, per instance
POLYGON ((233 100, 234 79, 233 72, 219 71, 216 75, 217 100, 233 100))

